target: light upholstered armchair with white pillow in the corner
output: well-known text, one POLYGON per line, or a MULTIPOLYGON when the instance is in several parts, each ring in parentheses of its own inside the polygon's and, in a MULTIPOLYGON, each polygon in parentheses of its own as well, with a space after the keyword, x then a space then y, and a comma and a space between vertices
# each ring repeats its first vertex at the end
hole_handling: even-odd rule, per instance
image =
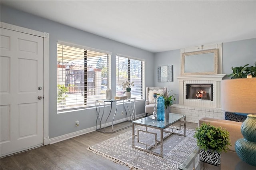
POLYGON ((145 103, 146 117, 148 116, 148 113, 154 112, 154 97, 153 97, 154 93, 166 95, 167 87, 146 87, 146 103, 145 103))

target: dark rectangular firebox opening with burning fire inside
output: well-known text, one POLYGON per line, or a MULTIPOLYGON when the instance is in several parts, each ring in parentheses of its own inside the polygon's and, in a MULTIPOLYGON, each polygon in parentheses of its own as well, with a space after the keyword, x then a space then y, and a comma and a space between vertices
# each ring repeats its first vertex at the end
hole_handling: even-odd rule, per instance
POLYGON ((213 101, 213 84, 186 84, 186 99, 213 101))

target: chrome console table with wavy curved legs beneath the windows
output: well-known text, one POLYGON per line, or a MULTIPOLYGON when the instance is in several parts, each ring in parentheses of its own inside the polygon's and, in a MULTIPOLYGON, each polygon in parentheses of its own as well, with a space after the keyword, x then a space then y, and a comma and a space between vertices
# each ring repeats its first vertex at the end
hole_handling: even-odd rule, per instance
MULTIPOLYGON (((135 120, 135 116, 136 116, 135 104, 136 104, 135 98, 118 99, 118 100, 117 99, 96 100, 96 102, 95 102, 95 107, 96 107, 96 112, 97 112, 96 131, 99 131, 102 133, 114 133, 114 132, 123 130, 125 128, 131 127, 132 120, 135 120), (117 111, 117 107, 118 107, 119 103, 122 103, 122 106, 124 107, 124 111, 126 113, 126 121, 129 121, 131 123, 131 125, 114 130, 113 129, 114 119, 116 116, 116 111, 117 111), (106 123, 107 123, 108 119, 110 118, 113 104, 116 104, 116 108, 115 108, 115 113, 112 117, 111 131, 106 131, 106 123), (105 112, 106 112, 105 107, 109 106, 109 105, 110 105, 110 111, 109 111, 109 113, 107 113, 107 117, 104 117, 105 112), (130 115, 130 120, 128 120, 128 114, 130 115), (97 128, 97 123, 100 123, 99 124, 100 128, 97 128)), ((123 122, 125 122, 125 121, 123 121, 123 122)), ((108 127, 110 127, 110 126, 108 126, 108 127)))

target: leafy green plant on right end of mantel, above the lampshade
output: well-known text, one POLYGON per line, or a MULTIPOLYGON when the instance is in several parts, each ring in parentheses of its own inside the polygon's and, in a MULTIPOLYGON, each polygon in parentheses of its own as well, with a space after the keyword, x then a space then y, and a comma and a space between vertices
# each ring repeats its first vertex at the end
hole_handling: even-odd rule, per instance
POLYGON ((229 74, 228 77, 231 76, 231 79, 246 78, 248 74, 256 77, 256 62, 254 63, 255 66, 246 67, 247 65, 249 64, 241 67, 231 67, 233 73, 229 74))

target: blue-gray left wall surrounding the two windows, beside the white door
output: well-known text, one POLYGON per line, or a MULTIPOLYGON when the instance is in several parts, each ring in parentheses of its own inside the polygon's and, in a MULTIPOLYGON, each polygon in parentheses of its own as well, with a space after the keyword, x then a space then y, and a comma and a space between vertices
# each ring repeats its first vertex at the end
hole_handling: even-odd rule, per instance
MULTIPOLYGON (((50 20, 46 20, 28 13, 24 13, 7 6, 1 5, 1 22, 29 28, 32 30, 47 32, 49 38, 49 136, 50 138, 75 132, 95 126, 96 110, 85 109, 57 114, 57 42, 64 41, 78 45, 84 45, 96 49, 112 52, 111 56, 111 89, 116 91, 116 54, 128 55, 145 59, 145 71, 147 75, 153 75, 152 65, 154 54, 136 47, 103 38, 88 32, 84 32, 69 26, 65 26, 50 20), (80 125, 75 127, 75 121, 80 125)), ((146 86, 153 86, 152 77, 145 78, 146 86)), ((136 114, 145 113, 145 101, 136 102, 136 114)), ((109 109, 109 108, 108 108, 109 109)), ((118 110, 117 120, 124 118, 118 110)), ((112 120, 112 119, 110 119, 112 120)))

